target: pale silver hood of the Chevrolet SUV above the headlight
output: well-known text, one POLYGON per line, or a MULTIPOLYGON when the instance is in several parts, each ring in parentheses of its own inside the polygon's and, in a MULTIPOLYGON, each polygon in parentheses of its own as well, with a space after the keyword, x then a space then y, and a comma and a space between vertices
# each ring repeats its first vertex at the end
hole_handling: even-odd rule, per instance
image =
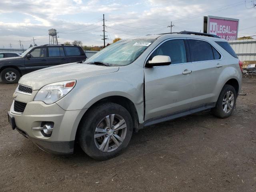
POLYGON ((118 69, 119 67, 68 63, 28 73, 20 78, 19 84, 30 86, 33 90, 39 90, 42 86, 50 83, 113 73, 118 71, 118 69))

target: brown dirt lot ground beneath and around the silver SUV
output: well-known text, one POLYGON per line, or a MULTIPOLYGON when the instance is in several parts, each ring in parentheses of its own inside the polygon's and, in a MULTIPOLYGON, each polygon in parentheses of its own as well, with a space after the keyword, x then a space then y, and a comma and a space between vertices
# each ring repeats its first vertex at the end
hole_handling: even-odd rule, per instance
POLYGON ((206 111, 150 126, 104 162, 80 149, 47 154, 12 130, 16 86, 0 82, 0 191, 256 191, 255 78, 244 78, 230 118, 206 111))

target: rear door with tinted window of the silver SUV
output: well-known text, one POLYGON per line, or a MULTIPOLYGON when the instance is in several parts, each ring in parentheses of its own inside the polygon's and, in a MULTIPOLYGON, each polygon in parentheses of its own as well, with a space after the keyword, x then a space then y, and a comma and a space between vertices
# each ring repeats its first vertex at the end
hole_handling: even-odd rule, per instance
POLYGON ((194 99, 192 107, 214 101, 214 89, 222 72, 221 54, 205 40, 187 39, 194 65, 194 99))

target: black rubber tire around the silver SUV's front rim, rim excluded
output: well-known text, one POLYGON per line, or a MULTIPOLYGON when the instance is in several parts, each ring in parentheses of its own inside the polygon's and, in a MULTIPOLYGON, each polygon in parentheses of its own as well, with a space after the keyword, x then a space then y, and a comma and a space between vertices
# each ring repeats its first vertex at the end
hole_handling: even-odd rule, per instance
MULTIPOLYGON (((111 102, 102 103, 89 109, 89 111, 86 112, 86 115, 82 118, 78 131, 78 140, 82 150, 84 150, 88 156, 96 160, 107 160, 116 156, 124 148, 126 148, 132 137, 132 130, 132 117, 126 108, 111 102), (122 118, 125 120, 126 135, 122 144, 120 144, 120 146, 115 150, 103 152, 96 146, 96 143, 94 142, 94 132, 101 120, 111 114, 122 116, 122 118)), ((113 140, 112 142, 114 143, 113 140)))

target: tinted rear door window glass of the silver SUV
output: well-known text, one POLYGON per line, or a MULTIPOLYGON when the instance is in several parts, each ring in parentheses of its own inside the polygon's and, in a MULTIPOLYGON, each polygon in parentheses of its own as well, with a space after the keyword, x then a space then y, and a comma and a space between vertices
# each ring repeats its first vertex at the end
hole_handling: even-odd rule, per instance
POLYGON ((208 42, 189 39, 188 46, 192 62, 214 60, 212 46, 208 42))

